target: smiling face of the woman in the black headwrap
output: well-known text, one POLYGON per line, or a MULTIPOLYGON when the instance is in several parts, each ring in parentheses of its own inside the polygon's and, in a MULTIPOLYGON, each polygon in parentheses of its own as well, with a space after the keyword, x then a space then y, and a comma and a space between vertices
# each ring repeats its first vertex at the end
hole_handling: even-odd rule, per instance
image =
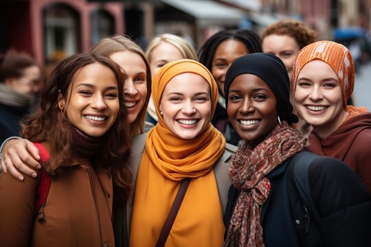
POLYGON ((227 113, 238 135, 254 147, 276 126, 277 102, 261 78, 242 74, 229 86, 227 113))

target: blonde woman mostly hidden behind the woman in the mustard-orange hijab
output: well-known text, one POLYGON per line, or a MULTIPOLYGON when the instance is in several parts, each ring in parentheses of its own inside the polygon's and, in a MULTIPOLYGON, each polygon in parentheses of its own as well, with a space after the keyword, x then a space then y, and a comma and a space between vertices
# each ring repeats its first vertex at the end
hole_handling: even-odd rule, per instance
MULTIPOLYGON (((192 45, 174 34, 160 34, 153 38, 146 49, 146 57, 150 63, 152 78, 155 78, 157 71, 168 62, 183 58, 198 60, 192 45)), ((148 104, 146 119, 153 125, 158 121, 152 97, 148 104)))

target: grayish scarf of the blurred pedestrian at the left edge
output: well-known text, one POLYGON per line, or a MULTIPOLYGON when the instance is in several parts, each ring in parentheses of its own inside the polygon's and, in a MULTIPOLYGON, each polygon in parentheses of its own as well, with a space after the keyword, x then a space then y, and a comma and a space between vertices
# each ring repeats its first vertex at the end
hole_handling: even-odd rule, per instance
POLYGON ((17 93, 5 83, 0 83, 0 103, 7 106, 26 107, 31 104, 31 96, 17 93))

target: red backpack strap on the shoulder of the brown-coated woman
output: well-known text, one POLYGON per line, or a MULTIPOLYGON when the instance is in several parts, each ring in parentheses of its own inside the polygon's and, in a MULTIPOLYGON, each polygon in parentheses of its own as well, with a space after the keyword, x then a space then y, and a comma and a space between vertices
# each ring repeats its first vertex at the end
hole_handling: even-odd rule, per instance
MULTIPOLYGON (((49 153, 41 143, 34 143, 40 153, 41 163, 45 163, 49 160, 49 153)), ((49 194, 50 185, 52 185, 52 177, 47 175, 43 169, 41 172, 41 180, 37 187, 35 211, 37 213, 37 219, 39 222, 45 220, 43 209, 49 194)))

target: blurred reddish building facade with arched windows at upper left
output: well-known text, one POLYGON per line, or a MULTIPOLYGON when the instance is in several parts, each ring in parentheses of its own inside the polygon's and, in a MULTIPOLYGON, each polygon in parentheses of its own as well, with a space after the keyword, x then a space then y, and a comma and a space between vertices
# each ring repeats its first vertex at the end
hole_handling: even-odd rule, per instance
POLYGON ((104 36, 124 33, 122 10, 117 2, 1 1, 1 51, 25 51, 39 64, 58 61, 89 50, 104 36))

